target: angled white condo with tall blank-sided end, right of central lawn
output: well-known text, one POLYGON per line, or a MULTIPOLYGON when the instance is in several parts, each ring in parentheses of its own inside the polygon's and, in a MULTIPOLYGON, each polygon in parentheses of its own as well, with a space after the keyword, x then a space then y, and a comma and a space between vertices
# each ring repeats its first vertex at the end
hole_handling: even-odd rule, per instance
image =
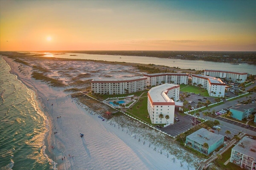
POLYGON ((201 84, 208 91, 209 96, 224 97, 226 84, 219 78, 206 75, 192 75, 192 84, 201 84))

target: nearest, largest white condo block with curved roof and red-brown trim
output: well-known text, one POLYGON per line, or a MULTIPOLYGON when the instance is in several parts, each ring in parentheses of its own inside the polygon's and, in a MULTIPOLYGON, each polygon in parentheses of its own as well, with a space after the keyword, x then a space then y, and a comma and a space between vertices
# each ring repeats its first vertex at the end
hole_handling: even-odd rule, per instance
POLYGON ((153 124, 173 124, 175 102, 179 99, 180 85, 165 83, 148 91, 148 114, 153 124), (173 100, 173 99, 174 100, 173 100), (159 118, 162 114, 164 117, 159 118), (169 115, 169 119, 165 116, 169 115))

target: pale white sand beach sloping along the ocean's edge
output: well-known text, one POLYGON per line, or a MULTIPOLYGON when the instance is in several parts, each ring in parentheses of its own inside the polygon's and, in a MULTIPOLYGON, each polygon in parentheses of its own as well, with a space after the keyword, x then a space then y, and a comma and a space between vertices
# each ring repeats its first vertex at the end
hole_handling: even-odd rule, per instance
MULTIPOLYGON (((50 87, 45 82, 34 80, 29 66, 21 67, 20 63, 14 62, 13 59, 8 57, 4 59, 11 66, 12 73, 18 75, 24 84, 36 92, 42 110, 48 116, 50 128, 49 136, 46 138, 48 142, 46 153, 57 163, 56 168, 59 170, 191 170, 197 168, 194 165, 200 160, 178 148, 178 145, 174 144, 173 149, 182 152, 183 158, 171 155, 160 143, 150 143, 149 137, 143 135, 143 129, 135 132, 132 127, 121 127, 117 119, 102 121, 100 115, 73 99, 69 93, 63 91, 64 88, 50 87), (84 136, 80 137, 80 133, 84 136), (184 160, 186 157, 194 161, 189 160, 188 163, 184 160)), ((75 65, 76 63, 73 62, 66 68, 75 68, 75 65)), ((128 68, 113 68, 112 72, 116 73, 118 69, 127 69, 130 72, 128 68)), ((62 71, 64 71, 63 68, 62 71)), ((57 71, 55 73, 57 74, 57 71)), ((131 74, 133 75, 130 73, 123 76, 131 76, 131 74)), ((97 75, 94 74, 94 76, 97 75)), ((61 78, 65 79, 65 77, 61 78)), ((136 121, 132 122, 137 124, 136 121)), ((152 130, 152 135, 163 134, 152 130)))

